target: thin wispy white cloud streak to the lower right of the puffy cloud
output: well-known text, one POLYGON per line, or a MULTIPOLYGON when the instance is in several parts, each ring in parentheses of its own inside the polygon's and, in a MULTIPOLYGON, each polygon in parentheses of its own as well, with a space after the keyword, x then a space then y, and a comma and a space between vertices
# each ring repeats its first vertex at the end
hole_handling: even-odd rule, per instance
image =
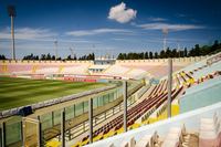
POLYGON ((161 22, 136 24, 136 27, 143 28, 145 30, 168 29, 169 31, 185 31, 185 30, 204 29, 204 27, 196 25, 196 24, 170 24, 170 23, 161 23, 161 22))

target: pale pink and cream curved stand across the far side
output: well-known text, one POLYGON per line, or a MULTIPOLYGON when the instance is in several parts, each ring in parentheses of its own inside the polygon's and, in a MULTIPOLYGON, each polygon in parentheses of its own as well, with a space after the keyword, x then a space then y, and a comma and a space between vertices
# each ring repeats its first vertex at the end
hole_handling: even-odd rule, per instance
MULTIPOLYGON (((173 59, 173 71, 178 71, 204 57, 207 56, 173 59)), ((0 74, 97 74, 125 76, 127 78, 141 78, 148 74, 148 76, 160 78, 167 75, 167 60, 116 61, 115 64, 110 65, 95 65, 92 61, 0 61, 0 74), (105 70, 91 72, 90 69, 95 66, 97 70, 105 70)))

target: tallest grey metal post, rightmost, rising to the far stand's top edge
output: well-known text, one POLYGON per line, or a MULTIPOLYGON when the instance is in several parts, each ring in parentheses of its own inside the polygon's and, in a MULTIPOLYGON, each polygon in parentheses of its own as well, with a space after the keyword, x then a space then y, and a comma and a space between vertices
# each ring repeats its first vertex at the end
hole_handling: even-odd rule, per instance
POLYGON ((172 91, 172 59, 168 59, 168 99, 167 116, 171 117, 171 91, 172 91))

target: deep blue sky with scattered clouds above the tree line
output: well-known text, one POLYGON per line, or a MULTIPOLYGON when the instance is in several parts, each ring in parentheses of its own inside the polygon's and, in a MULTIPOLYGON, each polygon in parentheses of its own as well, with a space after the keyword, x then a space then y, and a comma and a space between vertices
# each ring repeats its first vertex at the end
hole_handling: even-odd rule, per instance
POLYGON ((167 46, 191 48, 221 39, 220 0, 0 0, 0 54, 11 56, 10 18, 17 8, 17 56, 95 52, 160 51, 162 29, 167 46))

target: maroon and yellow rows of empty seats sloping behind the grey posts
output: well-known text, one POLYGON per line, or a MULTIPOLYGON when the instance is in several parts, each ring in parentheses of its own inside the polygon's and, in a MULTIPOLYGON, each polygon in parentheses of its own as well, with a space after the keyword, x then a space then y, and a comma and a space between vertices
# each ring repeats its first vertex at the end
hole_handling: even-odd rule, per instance
MULTIPOLYGON (((177 78, 177 85, 175 85, 173 90, 172 90, 172 101, 175 101, 175 98, 180 94, 180 92, 183 90, 183 86, 187 86, 187 84, 192 84, 194 82, 193 77, 191 76, 190 73, 186 73, 185 71, 181 71, 179 73, 177 73, 175 75, 175 78, 177 78)), ((140 126, 139 123, 137 123, 137 120, 144 115, 146 114, 146 112, 150 112, 148 113, 148 115, 146 115, 146 117, 148 119, 143 119, 144 124, 151 124, 152 119, 151 119, 151 113, 152 111, 150 109, 157 109, 159 108, 167 99, 167 84, 168 81, 167 80, 162 80, 159 84, 154 85, 152 88, 150 88, 151 91, 149 92, 149 96, 147 98, 145 98, 143 102, 140 102, 138 105, 136 105, 135 107, 130 108, 128 111, 128 127, 129 128, 136 128, 136 126, 140 126), (154 107, 154 108, 152 108, 154 107), (134 125, 134 126, 133 126, 134 125)), ((172 112, 175 112, 175 114, 177 115, 178 109, 178 101, 176 101, 176 105, 175 105, 175 109, 172 112)), ((156 111, 157 112, 157 111, 156 111)), ((157 117, 154 122, 160 120, 167 118, 167 113, 166 113, 166 107, 162 106, 160 112, 157 113, 157 117)), ((101 129, 95 130, 94 133, 94 137, 95 140, 99 140, 103 138, 106 138, 106 136, 108 136, 107 134, 110 132, 110 134, 118 134, 123 132, 123 115, 118 116, 113 122, 109 122, 109 124, 107 124, 107 126, 103 126, 101 129), (116 126, 117 124, 117 126, 116 126), (114 128, 114 130, 113 130, 114 128), (97 133, 98 132, 98 133, 97 133), (98 136, 98 137, 97 137, 98 136), (105 136, 105 137, 104 137, 105 136)), ((112 136, 110 135, 110 136, 112 136)), ((83 139, 82 143, 77 143, 75 146, 81 146, 81 145, 85 145, 88 144, 88 136, 87 139, 83 139), (87 140, 87 143, 85 141, 87 140)))

